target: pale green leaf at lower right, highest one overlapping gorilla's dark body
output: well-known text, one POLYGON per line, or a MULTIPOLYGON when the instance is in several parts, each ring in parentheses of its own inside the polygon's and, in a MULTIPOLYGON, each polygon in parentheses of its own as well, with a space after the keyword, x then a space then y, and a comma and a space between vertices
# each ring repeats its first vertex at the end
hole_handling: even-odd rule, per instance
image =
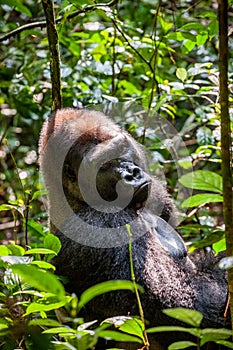
POLYGON ((194 327, 200 327, 203 315, 196 310, 189 310, 184 308, 175 308, 163 310, 163 312, 176 320, 188 323, 194 327))

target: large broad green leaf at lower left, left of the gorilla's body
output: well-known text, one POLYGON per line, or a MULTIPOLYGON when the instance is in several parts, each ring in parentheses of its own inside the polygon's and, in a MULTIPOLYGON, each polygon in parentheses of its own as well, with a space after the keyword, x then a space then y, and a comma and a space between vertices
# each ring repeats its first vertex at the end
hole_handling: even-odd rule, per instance
POLYGON ((26 283, 39 291, 53 293, 58 298, 64 298, 65 290, 63 285, 58 281, 57 277, 49 271, 44 271, 35 266, 25 264, 12 265, 11 269, 14 273, 22 277, 26 283))

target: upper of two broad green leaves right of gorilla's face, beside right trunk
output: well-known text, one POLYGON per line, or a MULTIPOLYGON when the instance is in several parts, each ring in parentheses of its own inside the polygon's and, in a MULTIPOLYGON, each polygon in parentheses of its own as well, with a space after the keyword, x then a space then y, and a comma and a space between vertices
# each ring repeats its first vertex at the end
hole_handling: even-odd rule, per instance
POLYGON ((179 182, 195 190, 218 192, 222 194, 222 177, 212 171, 197 170, 181 176, 179 182))

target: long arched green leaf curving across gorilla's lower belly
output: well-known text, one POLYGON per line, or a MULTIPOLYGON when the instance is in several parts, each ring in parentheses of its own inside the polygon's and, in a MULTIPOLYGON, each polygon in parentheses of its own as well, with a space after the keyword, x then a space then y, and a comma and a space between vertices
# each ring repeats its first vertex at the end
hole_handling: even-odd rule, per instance
MULTIPOLYGON (((141 286, 137 285, 137 288, 142 292, 143 289, 141 286)), ((131 281, 125 281, 125 280, 115 280, 115 281, 106 281, 99 284, 96 284, 95 286, 92 286, 88 289, 86 289, 79 300, 78 303, 78 310, 80 310, 85 304, 87 304, 90 300, 95 298, 98 295, 113 292, 116 290, 130 290, 132 292, 135 291, 134 283, 131 281)))

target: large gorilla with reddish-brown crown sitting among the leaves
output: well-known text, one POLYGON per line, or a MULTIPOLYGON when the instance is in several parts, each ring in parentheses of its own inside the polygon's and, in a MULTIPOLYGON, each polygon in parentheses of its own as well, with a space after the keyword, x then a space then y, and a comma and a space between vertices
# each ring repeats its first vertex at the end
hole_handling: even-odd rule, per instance
MULTIPOLYGON (((187 254, 174 229, 172 200, 150 175, 143 148, 132 136, 101 112, 65 108, 45 121, 39 152, 50 228, 62 243, 55 265, 67 277, 69 292, 80 295, 103 281, 131 280, 128 224, 149 325, 177 324, 162 312, 174 307, 199 310, 203 327, 226 325, 227 278, 216 267, 218 258, 187 254)), ((93 299, 83 312, 86 320, 101 321, 137 315, 138 307, 132 293, 119 291, 93 299)), ((174 339, 155 336, 160 349, 174 339)))

